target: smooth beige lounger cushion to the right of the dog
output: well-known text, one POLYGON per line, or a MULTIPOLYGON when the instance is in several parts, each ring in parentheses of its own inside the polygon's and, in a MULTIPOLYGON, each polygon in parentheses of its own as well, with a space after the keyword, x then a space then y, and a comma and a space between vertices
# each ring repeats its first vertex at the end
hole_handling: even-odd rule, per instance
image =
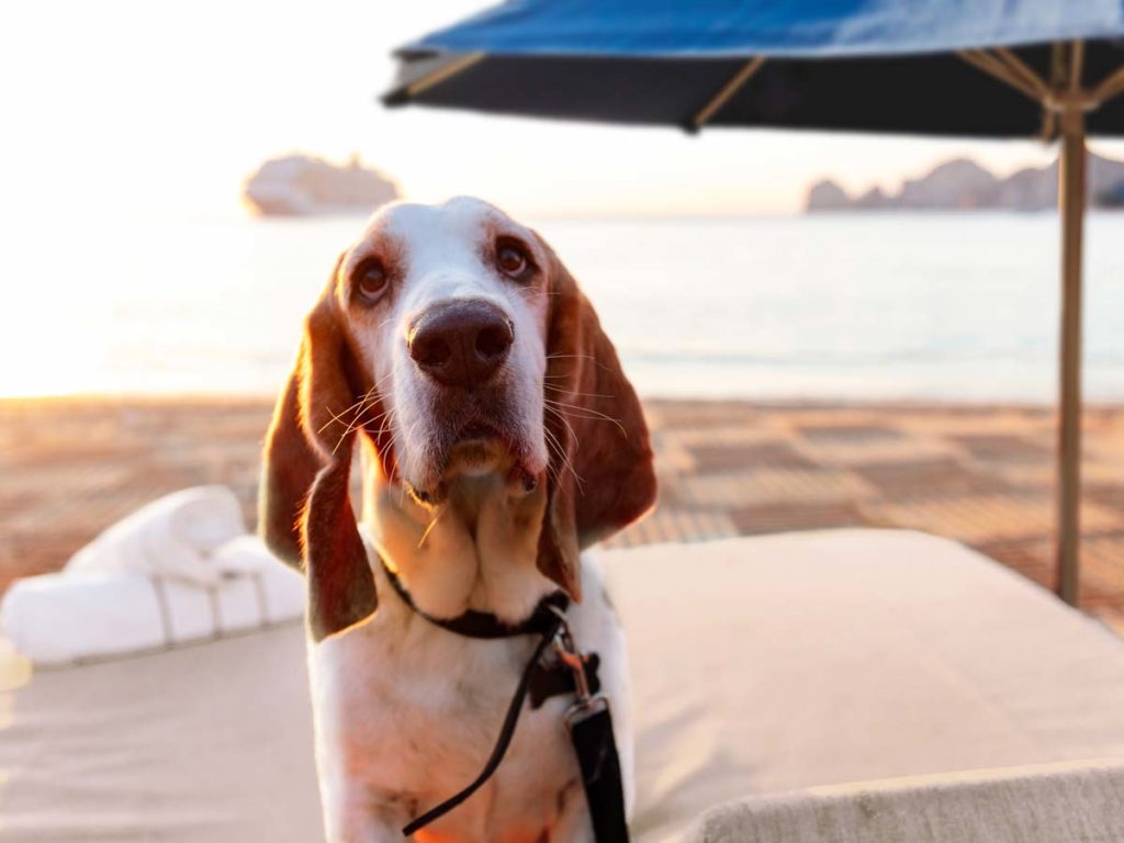
POLYGON ((746 796, 1124 756, 1124 642, 953 542, 825 531, 620 551, 605 568, 645 843, 746 796))

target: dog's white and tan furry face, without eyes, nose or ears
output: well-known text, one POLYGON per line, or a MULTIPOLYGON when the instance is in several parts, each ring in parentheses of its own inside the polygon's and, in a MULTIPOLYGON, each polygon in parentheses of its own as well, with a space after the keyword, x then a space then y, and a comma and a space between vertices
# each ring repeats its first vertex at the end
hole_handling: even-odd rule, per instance
POLYGON ((392 275, 384 300, 371 312, 355 314, 352 305, 352 330, 383 397, 402 479, 426 493, 439 487, 457 437, 444 424, 496 425, 526 475, 537 477, 546 468, 542 397, 547 296, 541 272, 519 282, 495 265, 496 242, 505 237, 523 244, 537 266, 545 265, 534 233, 486 202, 460 198, 437 207, 393 205, 372 218, 342 265, 347 279, 378 259, 392 275), (435 383, 410 354, 417 321, 435 306, 456 301, 492 305, 514 329, 510 353, 479 401, 435 383))

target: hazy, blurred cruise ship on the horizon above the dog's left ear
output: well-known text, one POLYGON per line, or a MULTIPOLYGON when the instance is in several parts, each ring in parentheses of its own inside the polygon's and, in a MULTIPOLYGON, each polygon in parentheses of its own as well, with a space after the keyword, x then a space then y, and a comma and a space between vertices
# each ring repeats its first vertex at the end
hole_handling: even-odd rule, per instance
POLYGON ((243 199, 263 216, 370 212, 398 198, 398 188, 357 156, 336 166, 307 155, 262 164, 246 179, 243 199))

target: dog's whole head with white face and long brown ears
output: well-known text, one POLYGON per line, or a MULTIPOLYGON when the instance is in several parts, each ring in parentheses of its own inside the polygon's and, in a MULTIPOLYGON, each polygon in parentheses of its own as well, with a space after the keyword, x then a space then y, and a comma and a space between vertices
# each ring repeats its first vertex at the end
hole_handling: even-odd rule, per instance
POLYGON ((538 235, 474 199, 381 210, 306 321, 260 515, 308 572, 317 640, 377 606, 348 496, 356 436, 423 506, 483 474, 545 486, 537 565, 575 599, 580 549, 655 498, 640 402, 593 309, 538 235))

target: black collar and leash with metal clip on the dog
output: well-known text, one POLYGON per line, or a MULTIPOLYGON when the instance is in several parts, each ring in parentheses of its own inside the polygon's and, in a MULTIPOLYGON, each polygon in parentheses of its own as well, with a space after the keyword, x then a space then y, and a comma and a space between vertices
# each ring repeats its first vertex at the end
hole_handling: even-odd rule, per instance
MULTIPOLYGON (((593 696, 597 688, 596 673, 591 674, 590 662, 596 659, 583 655, 577 647, 570 626, 565 619, 565 610, 570 600, 561 591, 549 595, 535 607, 531 617, 522 624, 506 625, 495 615, 469 610, 452 619, 435 618, 427 615, 414 602, 409 591, 398 575, 382 564, 390 584, 402 601, 417 615, 429 623, 457 635, 472 638, 502 638, 516 635, 538 635, 538 644, 523 669, 515 695, 504 716, 496 746, 480 774, 460 792, 430 808, 402 828, 402 835, 408 837, 424 828, 433 821, 444 816, 457 805, 472 796, 488 781, 504 761, 515 727, 519 723, 519 714, 532 689, 536 674, 542 676, 542 658, 546 649, 555 646, 559 660, 573 674, 572 690, 577 697, 574 704, 565 714, 566 728, 578 755, 578 767, 581 769, 582 785, 586 789, 586 801, 589 805, 593 823, 593 837, 597 843, 628 843, 628 826, 625 822, 624 788, 620 774, 620 759, 613 736, 613 717, 609 704, 604 697, 593 696)), ((596 661, 593 662, 596 667, 596 661)))

